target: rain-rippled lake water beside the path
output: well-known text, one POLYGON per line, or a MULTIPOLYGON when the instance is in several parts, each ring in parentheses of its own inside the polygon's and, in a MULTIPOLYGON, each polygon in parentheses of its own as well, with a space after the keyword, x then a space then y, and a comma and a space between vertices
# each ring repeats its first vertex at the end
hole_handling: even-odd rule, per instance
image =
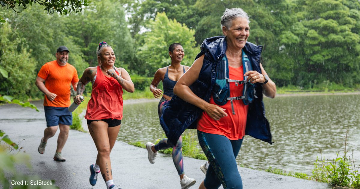
MULTIPOLYGON (((273 145, 245 136, 238 164, 265 170, 269 166, 308 175, 316 156, 325 159, 354 149, 360 164, 360 95, 277 96, 264 98, 273 145)), ((157 115, 158 102, 124 106, 118 139, 125 142, 155 142, 164 136, 157 115)), ((196 130, 187 130, 196 136, 196 130)), ((200 148, 200 147, 199 147, 200 148)), ((186 163, 186 162, 185 162, 186 163)), ((200 165, 199 165, 200 166, 200 165)))

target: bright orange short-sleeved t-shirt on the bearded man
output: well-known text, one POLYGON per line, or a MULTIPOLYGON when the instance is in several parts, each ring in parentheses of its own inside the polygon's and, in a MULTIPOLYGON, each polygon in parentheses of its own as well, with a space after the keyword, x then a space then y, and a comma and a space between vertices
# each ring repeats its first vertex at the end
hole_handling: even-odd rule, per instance
POLYGON ((70 106, 70 85, 79 81, 74 66, 69 63, 66 63, 65 66, 60 66, 54 60, 44 64, 37 76, 45 80, 46 89, 58 95, 53 101, 49 100, 48 96, 45 95, 44 106, 70 106))

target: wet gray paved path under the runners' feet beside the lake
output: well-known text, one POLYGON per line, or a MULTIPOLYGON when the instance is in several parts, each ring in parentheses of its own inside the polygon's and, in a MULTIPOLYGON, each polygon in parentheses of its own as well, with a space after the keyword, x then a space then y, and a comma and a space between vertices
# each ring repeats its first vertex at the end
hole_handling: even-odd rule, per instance
MULTIPOLYGON (((131 101, 124 102, 130 103, 131 101)), ((48 140, 44 154, 37 152, 46 127, 42 101, 33 102, 40 110, 22 108, 15 104, 0 106, 0 129, 31 156, 32 170, 19 166, 25 174, 38 174, 44 180, 55 180, 61 189, 105 188, 99 175, 94 187, 89 184, 89 165, 94 163, 96 148, 89 133, 70 130, 63 149, 66 162, 53 161, 59 131, 48 140)), ((83 126, 84 127, 84 126, 83 126)), ((121 129, 120 129, 121 132, 121 129)), ((178 189, 179 176, 169 155, 159 154, 155 164, 147 159, 147 150, 117 141, 111 152, 114 183, 122 189, 178 189)), ((200 166, 205 161, 184 157, 185 174, 197 180, 190 189, 198 188, 204 179, 200 166)), ((329 189, 327 184, 302 180, 265 171, 239 167, 244 189, 329 189)), ((0 188, 2 186, 0 185, 0 188)), ((222 187, 221 187, 222 188, 222 187)))

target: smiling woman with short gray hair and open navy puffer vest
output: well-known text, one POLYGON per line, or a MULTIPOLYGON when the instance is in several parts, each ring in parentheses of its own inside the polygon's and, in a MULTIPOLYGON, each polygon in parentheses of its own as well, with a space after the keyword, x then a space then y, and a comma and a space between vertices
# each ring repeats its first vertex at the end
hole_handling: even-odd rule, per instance
POLYGON ((225 10, 221 17, 224 36, 203 41, 195 62, 174 87, 177 97, 161 118, 171 141, 196 126, 210 162, 201 189, 221 184, 242 188, 235 159, 244 135, 272 143, 262 94, 274 98, 276 86, 260 63, 262 46, 247 42, 249 22, 242 9, 225 10))

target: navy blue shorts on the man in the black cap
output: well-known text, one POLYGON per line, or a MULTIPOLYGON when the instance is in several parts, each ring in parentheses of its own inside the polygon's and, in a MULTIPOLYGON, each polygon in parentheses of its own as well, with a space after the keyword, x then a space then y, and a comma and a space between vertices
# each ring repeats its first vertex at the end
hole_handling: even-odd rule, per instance
POLYGON ((65 107, 44 106, 46 126, 72 125, 72 113, 65 107))

